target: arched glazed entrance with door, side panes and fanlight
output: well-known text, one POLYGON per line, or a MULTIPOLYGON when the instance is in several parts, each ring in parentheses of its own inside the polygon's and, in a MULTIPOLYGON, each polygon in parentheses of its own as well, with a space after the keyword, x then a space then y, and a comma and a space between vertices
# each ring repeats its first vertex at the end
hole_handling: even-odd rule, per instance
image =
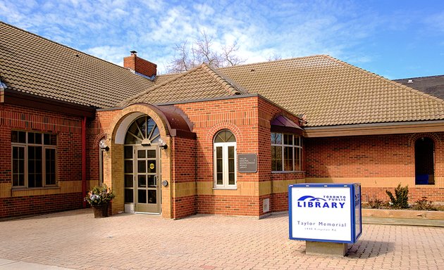
POLYGON ((148 115, 137 117, 126 131, 124 195, 125 205, 132 204, 134 212, 161 213, 159 143, 159 127, 148 115))

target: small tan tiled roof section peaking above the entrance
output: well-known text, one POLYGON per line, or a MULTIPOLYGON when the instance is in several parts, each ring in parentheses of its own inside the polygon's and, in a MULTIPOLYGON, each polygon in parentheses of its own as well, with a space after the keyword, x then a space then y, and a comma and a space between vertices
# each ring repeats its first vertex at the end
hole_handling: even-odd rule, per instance
POLYGON ((134 103, 173 103, 178 101, 198 101, 207 98, 247 94, 247 91, 230 79, 221 75, 209 65, 202 64, 164 82, 128 98, 119 105, 134 103))

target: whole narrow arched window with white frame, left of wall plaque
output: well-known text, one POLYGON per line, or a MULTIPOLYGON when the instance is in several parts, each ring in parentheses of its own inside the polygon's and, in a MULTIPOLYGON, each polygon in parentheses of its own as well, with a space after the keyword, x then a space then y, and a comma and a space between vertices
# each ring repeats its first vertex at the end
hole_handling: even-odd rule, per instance
POLYGON ((214 136, 214 187, 236 188, 236 138, 228 129, 214 136))

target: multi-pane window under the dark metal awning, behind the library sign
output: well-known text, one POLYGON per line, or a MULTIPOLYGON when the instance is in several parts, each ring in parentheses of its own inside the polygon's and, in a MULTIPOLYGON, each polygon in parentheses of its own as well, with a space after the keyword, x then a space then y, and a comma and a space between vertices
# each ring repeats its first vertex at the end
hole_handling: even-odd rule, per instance
POLYGON ((302 170, 302 138, 293 134, 271 133, 271 170, 302 170))

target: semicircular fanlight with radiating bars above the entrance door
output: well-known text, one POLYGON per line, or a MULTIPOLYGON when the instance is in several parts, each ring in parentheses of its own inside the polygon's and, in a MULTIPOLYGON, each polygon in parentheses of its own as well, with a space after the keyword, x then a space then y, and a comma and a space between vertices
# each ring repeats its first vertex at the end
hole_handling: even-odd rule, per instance
POLYGON ((125 144, 145 144, 159 143, 159 127, 148 115, 137 118, 125 136, 125 144))

